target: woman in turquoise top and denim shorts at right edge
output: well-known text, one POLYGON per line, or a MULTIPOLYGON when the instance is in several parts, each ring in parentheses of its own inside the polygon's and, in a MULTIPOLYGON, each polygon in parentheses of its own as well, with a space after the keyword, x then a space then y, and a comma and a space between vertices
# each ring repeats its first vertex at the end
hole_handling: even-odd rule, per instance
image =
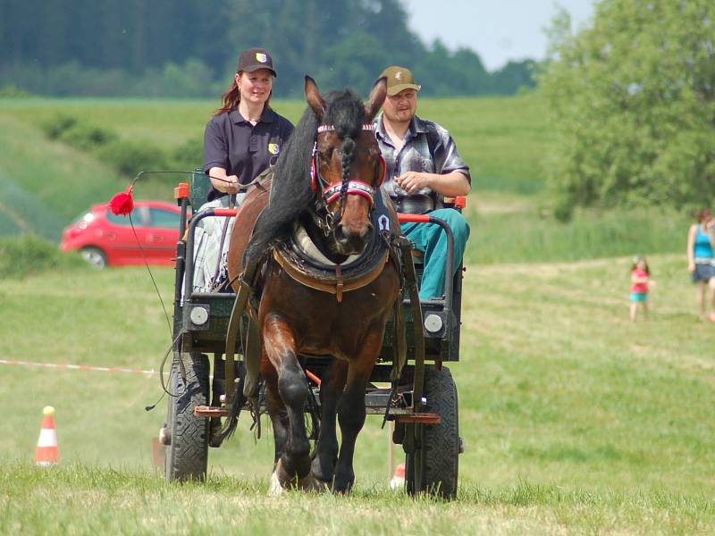
POLYGON ((687 269, 695 285, 702 320, 715 322, 715 219, 709 210, 703 209, 697 215, 697 222, 687 233, 687 269), (707 290, 711 291, 711 314, 707 310, 707 290))

